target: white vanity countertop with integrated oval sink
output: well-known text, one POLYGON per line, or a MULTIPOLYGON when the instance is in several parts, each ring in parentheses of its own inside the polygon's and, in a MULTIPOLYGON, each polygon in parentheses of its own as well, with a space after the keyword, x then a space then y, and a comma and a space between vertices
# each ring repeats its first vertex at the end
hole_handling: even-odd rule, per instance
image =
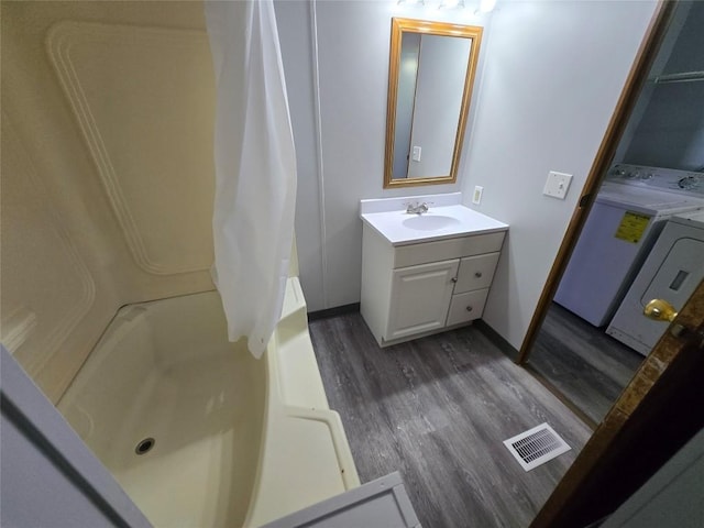
MULTIPOLYGON (((425 201, 414 197, 413 201, 425 201)), ((508 224, 494 220, 460 204, 429 206, 428 212, 415 215, 406 209, 369 211, 362 206, 360 217, 370 228, 384 237, 392 245, 452 239, 472 234, 508 230, 508 224)))

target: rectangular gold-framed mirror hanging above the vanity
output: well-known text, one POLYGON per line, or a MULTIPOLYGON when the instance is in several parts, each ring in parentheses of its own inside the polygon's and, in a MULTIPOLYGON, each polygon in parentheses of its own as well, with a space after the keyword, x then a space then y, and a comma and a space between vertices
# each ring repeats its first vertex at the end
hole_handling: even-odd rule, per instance
POLYGON ((384 188, 457 182, 482 28, 392 19, 384 188))

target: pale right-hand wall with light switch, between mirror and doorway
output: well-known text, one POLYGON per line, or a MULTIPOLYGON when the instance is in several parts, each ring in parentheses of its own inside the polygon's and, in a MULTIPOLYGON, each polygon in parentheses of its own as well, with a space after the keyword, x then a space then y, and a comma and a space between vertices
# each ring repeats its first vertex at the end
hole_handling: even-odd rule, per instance
POLYGON ((484 320, 515 348, 653 10, 652 1, 505 1, 494 12, 463 191, 470 207, 510 224, 484 320), (564 201, 542 195, 552 169, 574 175, 564 201), (470 204, 475 185, 480 206, 470 204))

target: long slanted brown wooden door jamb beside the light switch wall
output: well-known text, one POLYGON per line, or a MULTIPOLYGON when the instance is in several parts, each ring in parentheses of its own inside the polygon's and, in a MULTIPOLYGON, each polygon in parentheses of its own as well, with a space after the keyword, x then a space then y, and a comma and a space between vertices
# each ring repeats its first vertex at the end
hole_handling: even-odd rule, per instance
POLYGON ((524 338, 518 356, 516 358, 516 363, 519 365, 528 361, 530 351, 538 338, 538 332, 540 331, 544 318, 548 315, 548 309, 550 308, 552 298, 558 290, 558 285, 560 284, 562 274, 570 262, 572 251, 574 250, 580 233, 582 232, 582 228, 586 222, 586 217, 592 209, 603 175, 606 174, 612 164, 614 155, 616 154, 616 148, 618 147, 618 142, 626 130, 632 110, 638 101, 640 91, 646 84, 650 67, 658 55, 660 44, 664 38, 669 23, 674 13, 675 6, 676 1, 660 0, 656 7, 650 25, 646 31, 646 36, 640 44, 640 48, 636 55, 636 61, 630 68, 630 73, 626 79, 626 85, 622 90, 618 102, 616 103, 616 109, 614 110, 614 114, 612 116, 608 128, 606 129, 606 134, 602 140, 602 144, 600 145, 594 163, 592 164, 592 169, 584 183, 578 207, 572 213, 572 218, 568 224, 568 230, 562 239, 560 249, 558 250, 558 255, 550 268, 550 273, 546 280, 546 285, 542 288, 542 294, 538 300, 536 311, 534 312, 530 324, 528 326, 526 337, 524 338))

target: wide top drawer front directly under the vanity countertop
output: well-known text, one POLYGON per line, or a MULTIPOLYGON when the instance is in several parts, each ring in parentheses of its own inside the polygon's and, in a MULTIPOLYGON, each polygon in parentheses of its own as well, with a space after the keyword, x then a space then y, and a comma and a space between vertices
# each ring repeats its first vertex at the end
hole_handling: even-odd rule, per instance
POLYGON ((414 266, 427 262, 493 253, 502 249, 504 234, 505 231, 498 231, 496 233, 402 245, 395 249, 394 267, 414 266))

